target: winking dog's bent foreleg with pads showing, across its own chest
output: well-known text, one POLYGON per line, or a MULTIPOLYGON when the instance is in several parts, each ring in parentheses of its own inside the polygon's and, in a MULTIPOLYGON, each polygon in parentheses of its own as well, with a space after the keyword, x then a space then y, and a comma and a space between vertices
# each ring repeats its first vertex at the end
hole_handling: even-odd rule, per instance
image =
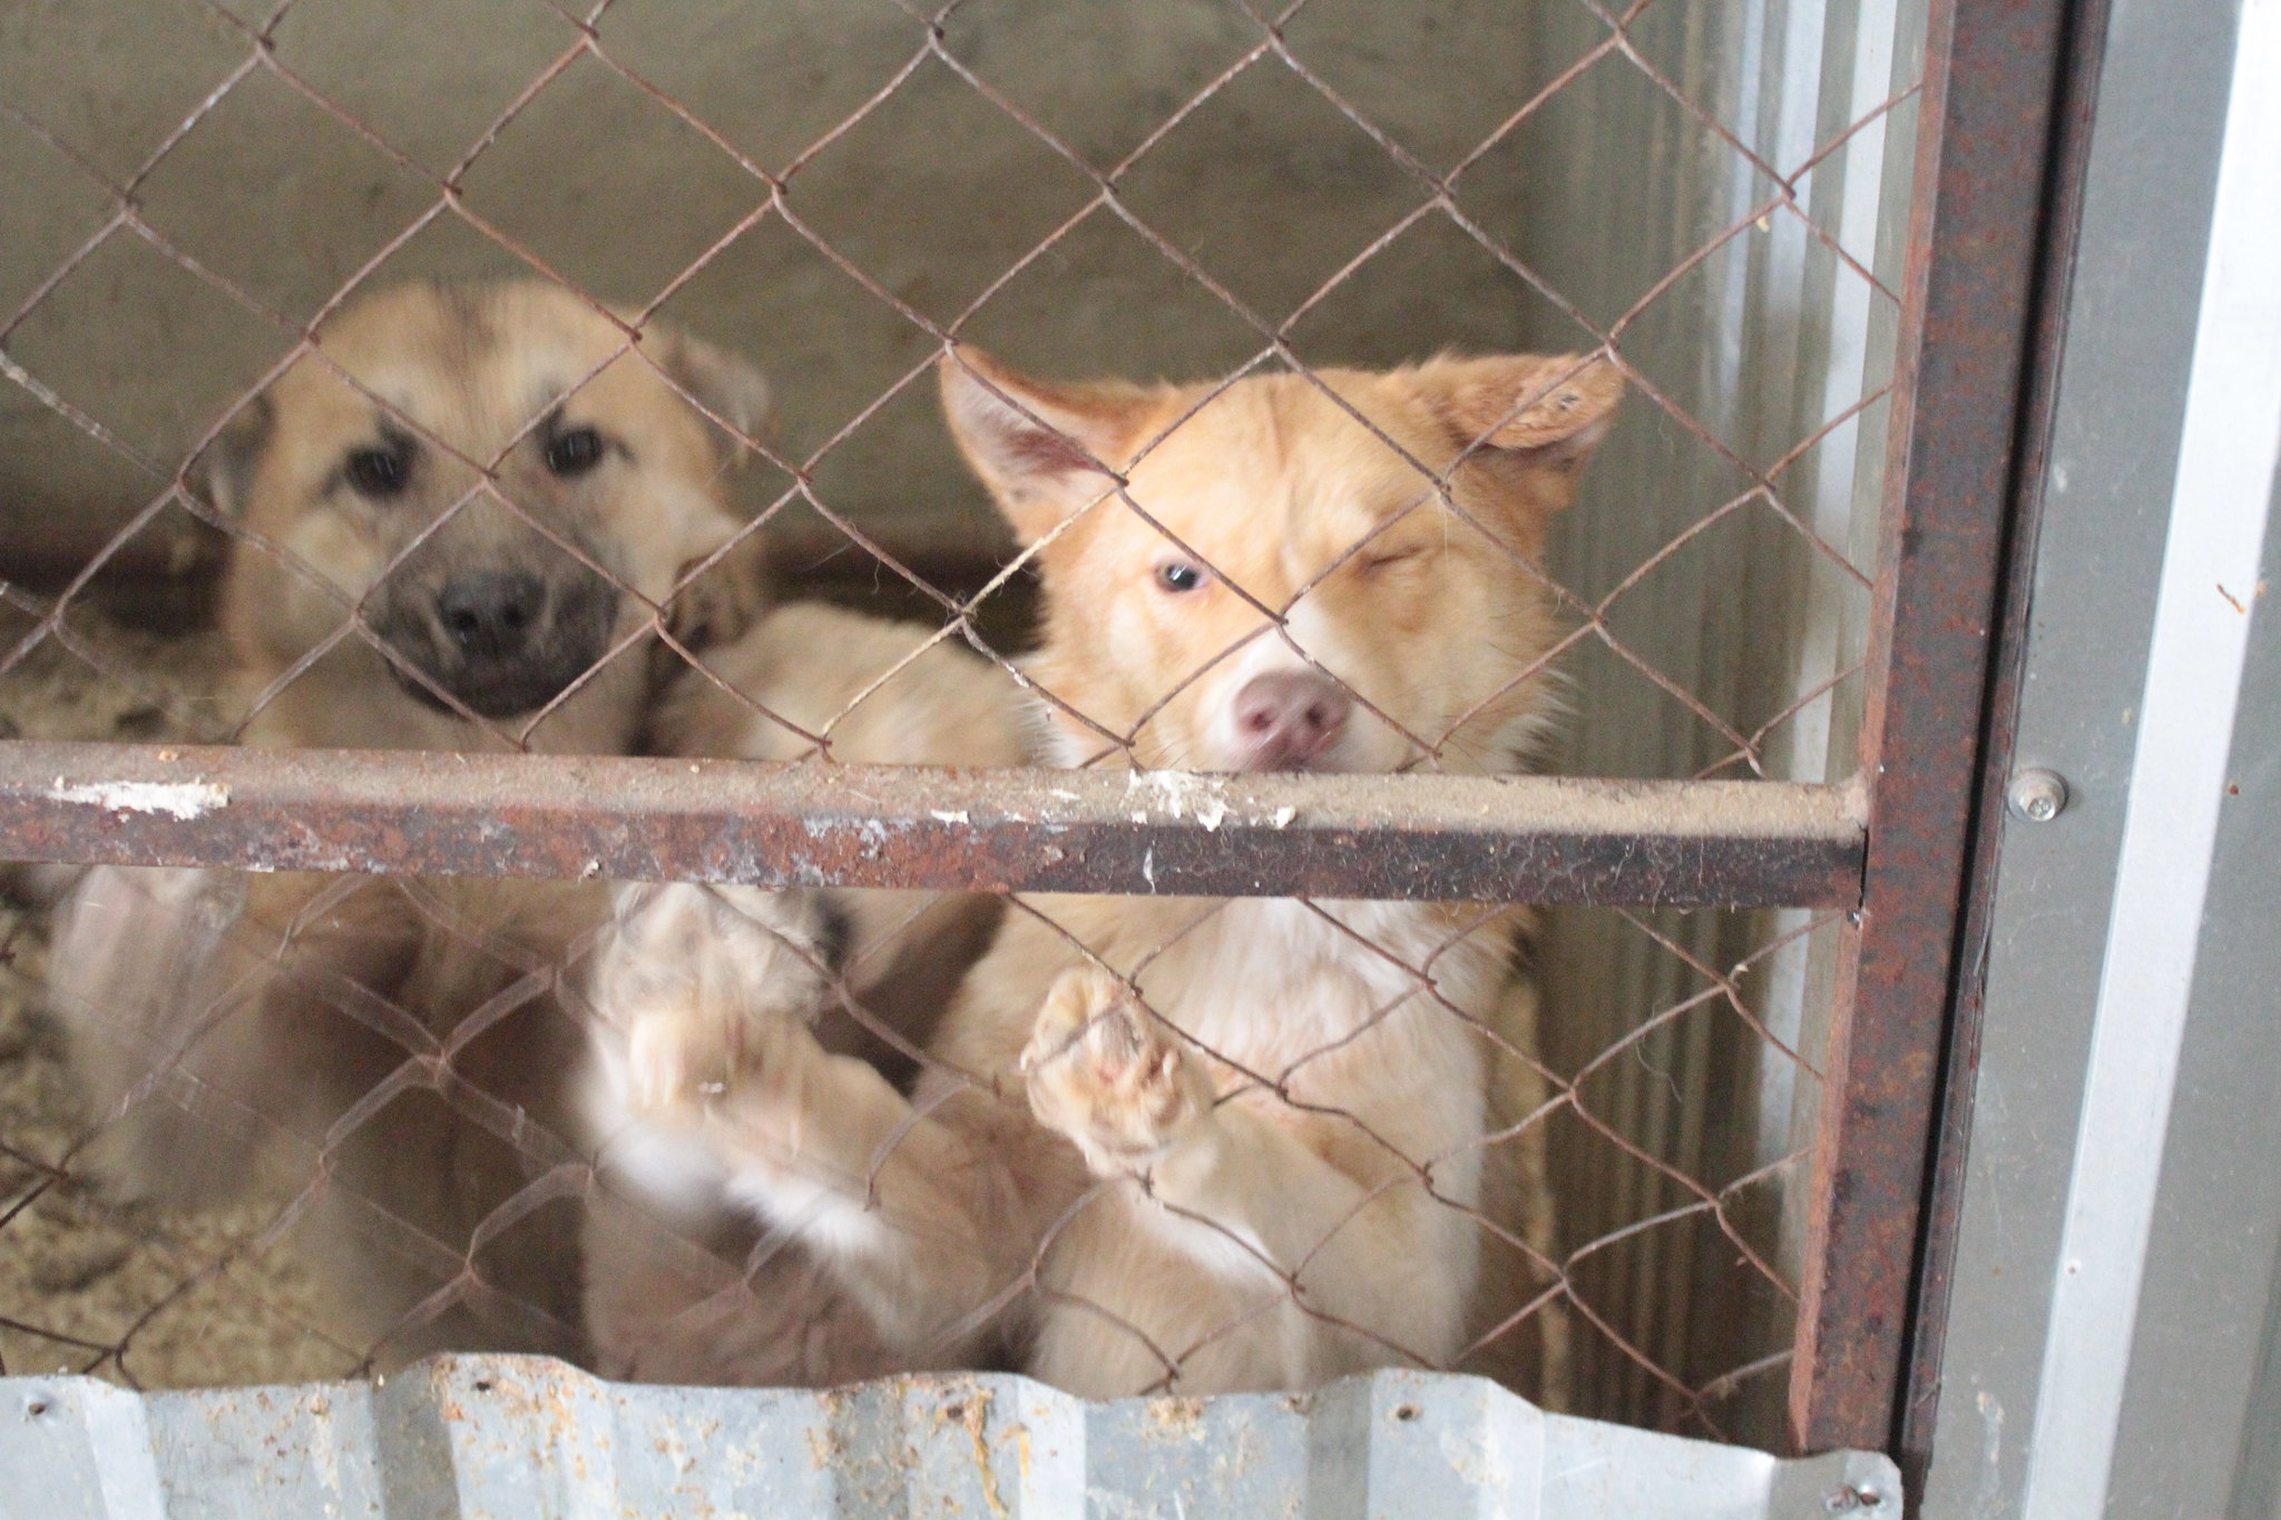
MULTIPOLYGON (((1022 1067, 1038 1121, 1068 1135, 1095 1176, 1138 1180, 1159 1208, 1136 1215, 1198 1267, 1282 1283, 1325 1333, 1375 1342, 1362 1360, 1455 1356, 1471 1256, 1412 1167, 1385 1153, 1362 1162, 1369 1142, 1344 1146, 1355 1169, 1334 1164, 1328 1144, 1309 1144, 1334 1133, 1334 1117, 1213 1103, 1202 1057, 1097 966, 1061 975, 1022 1067)), ((1341 1360, 1325 1342, 1314 1374, 1341 1360)))

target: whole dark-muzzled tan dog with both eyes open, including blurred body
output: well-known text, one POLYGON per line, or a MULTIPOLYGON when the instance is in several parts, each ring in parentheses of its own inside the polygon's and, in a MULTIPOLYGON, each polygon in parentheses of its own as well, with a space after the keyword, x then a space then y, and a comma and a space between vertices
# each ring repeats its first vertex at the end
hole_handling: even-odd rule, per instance
MULTIPOLYGON (((244 533, 221 624, 249 743, 636 747, 657 606, 696 643, 760 606, 741 558, 682 586, 739 529, 741 447, 677 390, 753 435, 766 385, 666 328, 625 349, 534 283, 399 287, 324 326, 203 460, 244 533)), ((308 1228, 363 1345, 575 1351, 584 1030, 557 984, 604 918, 602 884, 100 868, 62 909, 52 994, 123 1114, 123 1192, 303 1183, 322 1155, 308 1228)))

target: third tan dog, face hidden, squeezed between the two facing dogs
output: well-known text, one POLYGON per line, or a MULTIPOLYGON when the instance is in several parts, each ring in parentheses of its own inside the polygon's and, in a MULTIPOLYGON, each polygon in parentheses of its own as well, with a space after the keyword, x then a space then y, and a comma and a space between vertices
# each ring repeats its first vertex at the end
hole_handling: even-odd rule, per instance
MULTIPOLYGON (((659 713, 673 754, 871 766, 1017 766, 1013 677, 926 629, 792 604, 682 677, 659 713), (719 681, 714 679, 719 677, 719 681), (725 690, 723 684, 732 690, 725 690)), ((830 786, 830 770, 817 770, 830 786)), ((812 1251, 762 1240, 732 1171, 673 1094, 725 1087, 744 1037, 814 1028, 846 1060, 910 1067, 999 905, 915 891, 625 886, 595 955, 586 1110, 614 1201, 586 1228, 586 1324, 604 1376, 830 1386, 899 1360, 812 1251), (611 1028, 623 1010, 664 1010, 611 1028), (693 1064, 684 1064, 693 1062, 693 1064), (664 1231, 655 1226, 666 1226, 664 1231)))

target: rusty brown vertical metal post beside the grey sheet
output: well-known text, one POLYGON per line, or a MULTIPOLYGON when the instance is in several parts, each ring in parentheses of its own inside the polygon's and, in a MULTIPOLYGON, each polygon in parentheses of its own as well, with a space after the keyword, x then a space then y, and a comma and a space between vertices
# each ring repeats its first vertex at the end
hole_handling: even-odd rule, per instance
POLYGON ((1793 1438, 1893 1438, 1989 700, 2067 9, 1943 0, 1884 520, 1859 927, 1816 1149, 1793 1438))

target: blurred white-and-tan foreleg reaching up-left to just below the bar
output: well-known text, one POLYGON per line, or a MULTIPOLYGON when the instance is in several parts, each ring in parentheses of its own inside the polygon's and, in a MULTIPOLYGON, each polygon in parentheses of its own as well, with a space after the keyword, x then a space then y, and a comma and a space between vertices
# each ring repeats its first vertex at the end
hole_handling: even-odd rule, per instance
POLYGON ((1004 1105, 947 1092, 919 1112, 869 1062, 817 1041, 814 900, 648 891, 595 969, 611 1025, 598 1108, 623 1112, 650 1155, 707 1155, 719 1176, 705 1185, 805 1242, 903 1365, 965 1360, 974 1331, 956 1326, 1026 1267, 1004 1260, 1010 1174, 972 1133, 1004 1105))

